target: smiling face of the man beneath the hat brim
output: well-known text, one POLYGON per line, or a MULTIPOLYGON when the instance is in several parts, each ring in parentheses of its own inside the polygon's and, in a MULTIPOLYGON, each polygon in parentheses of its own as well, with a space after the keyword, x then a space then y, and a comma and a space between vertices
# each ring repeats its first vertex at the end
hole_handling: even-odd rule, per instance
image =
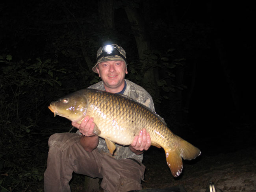
POLYGON ((104 82, 106 91, 116 89, 119 92, 119 89, 122 90, 125 74, 128 74, 124 61, 105 61, 99 63, 96 69, 104 82))

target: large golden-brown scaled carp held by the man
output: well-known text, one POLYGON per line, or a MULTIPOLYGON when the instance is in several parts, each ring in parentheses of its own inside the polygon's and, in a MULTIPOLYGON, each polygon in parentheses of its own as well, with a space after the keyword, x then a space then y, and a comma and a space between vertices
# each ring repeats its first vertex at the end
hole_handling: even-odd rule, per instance
POLYGON ((182 172, 182 158, 191 160, 200 150, 174 135, 163 119, 127 96, 95 89, 82 89, 48 107, 73 122, 81 123, 85 115, 94 118, 94 133, 104 138, 111 154, 115 144, 130 145, 143 128, 150 134, 151 144, 165 150, 166 160, 174 177, 182 172))

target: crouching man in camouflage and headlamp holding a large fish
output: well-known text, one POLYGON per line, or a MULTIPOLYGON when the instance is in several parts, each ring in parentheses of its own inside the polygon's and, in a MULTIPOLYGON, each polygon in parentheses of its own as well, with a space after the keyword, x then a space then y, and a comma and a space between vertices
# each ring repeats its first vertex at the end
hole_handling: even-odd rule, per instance
MULTIPOLYGON (((154 109, 148 92, 124 79, 127 72, 125 51, 116 44, 99 48, 93 71, 102 81, 89 88, 127 95, 154 109)), ((116 144, 113 156, 104 139, 93 133, 93 117, 85 116, 81 124, 72 122, 78 133, 56 133, 49 138, 49 153, 45 171, 45 192, 69 192, 72 172, 102 178, 106 192, 126 192, 141 189, 145 166, 143 151, 151 145, 146 129, 135 136, 130 146, 116 144)))

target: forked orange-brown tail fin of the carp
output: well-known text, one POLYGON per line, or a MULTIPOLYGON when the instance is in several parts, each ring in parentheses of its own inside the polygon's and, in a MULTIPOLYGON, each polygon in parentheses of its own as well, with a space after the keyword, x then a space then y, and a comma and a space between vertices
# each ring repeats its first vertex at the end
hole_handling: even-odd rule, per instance
POLYGON ((174 177, 178 177, 183 168, 182 158, 191 160, 201 154, 201 151, 186 140, 175 135, 171 147, 165 150, 166 161, 174 177), (173 144, 175 142, 176 144, 173 144), (173 148, 174 147, 174 148, 173 148))

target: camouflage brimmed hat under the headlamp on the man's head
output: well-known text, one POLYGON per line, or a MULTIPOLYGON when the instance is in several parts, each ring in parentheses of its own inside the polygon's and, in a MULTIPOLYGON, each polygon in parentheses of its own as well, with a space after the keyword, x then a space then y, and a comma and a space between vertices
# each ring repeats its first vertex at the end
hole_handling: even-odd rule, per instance
POLYGON ((125 55, 124 49, 121 46, 118 46, 117 44, 112 44, 112 45, 115 46, 115 48, 119 51, 120 54, 122 54, 122 56, 124 56, 125 59, 119 55, 102 56, 102 57, 98 58, 102 54, 102 47, 100 47, 97 52, 98 60, 97 60, 97 63, 95 64, 95 66, 93 67, 93 72, 98 73, 96 70, 96 66, 99 63, 102 63, 104 61, 124 61, 125 66, 127 68, 126 55, 125 55))

